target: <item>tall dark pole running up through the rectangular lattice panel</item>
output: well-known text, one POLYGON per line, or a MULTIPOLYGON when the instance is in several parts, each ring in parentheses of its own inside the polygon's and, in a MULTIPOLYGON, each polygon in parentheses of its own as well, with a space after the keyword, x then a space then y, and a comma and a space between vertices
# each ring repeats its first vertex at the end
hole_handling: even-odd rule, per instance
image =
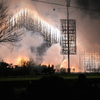
POLYGON ((69 45, 69 7, 70 7, 70 0, 66 1, 66 8, 67 8, 67 37, 68 37, 68 73, 70 73, 70 45, 69 45))

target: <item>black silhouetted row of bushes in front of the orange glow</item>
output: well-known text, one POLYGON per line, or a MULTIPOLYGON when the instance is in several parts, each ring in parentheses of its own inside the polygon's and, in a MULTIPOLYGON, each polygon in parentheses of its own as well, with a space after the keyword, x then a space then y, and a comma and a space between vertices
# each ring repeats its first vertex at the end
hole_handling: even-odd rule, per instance
POLYGON ((54 65, 24 64, 22 66, 0 62, 0 76, 25 76, 25 75, 48 75, 54 74, 54 65))

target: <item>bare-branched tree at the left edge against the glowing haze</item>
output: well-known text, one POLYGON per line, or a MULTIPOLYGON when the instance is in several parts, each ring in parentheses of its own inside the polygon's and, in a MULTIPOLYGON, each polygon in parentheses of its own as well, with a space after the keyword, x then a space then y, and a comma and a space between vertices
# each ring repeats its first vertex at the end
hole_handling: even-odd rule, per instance
MULTIPOLYGON (((6 2, 0 1, 0 43, 14 43, 21 40, 22 32, 16 33, 17 27, 13 25, 9 26, 8 17, 9 10, 6 2)), ((10 20, 11 22, 11 20, 10 20)), ((12 22, 11 22, 12 23, 12 22)))

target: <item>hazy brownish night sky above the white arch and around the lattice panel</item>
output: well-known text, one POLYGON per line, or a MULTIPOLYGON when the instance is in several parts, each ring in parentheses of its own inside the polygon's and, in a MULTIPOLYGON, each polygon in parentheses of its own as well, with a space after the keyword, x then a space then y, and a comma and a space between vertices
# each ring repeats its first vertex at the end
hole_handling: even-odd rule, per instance
MULTIPOLYGON (((11 13, 26 7, 34 10, 55 28, 60 30, 60 19, 66 18, 66 7, 39 3, 31 0, 6 0, 11 13), (53 10, 55 9, 55 10, 53 10)), ((65 4, 65 0, 43 0, 65 4)), ((100 0, 71 0, 70 19, 76 19, 77 54, 71 55, 71 65, 79 67, 79 52, 96 52, 100 49, 100 0), (74 6, 74 7, 72 7, 74 6), (80 7, 80 8, 77 8, 80 7), (85 9, 83 9, 85 8, 85 9), (77 58, 77 60, 75 60, 77 58)))

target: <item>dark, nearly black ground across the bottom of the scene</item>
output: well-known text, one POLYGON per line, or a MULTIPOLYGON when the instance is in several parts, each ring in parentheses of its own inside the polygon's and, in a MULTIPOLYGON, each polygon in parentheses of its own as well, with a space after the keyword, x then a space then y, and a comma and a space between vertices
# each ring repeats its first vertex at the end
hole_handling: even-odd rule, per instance
MULTIPOLYGON (((32 79, 28 76, 0 80, 1 100, 64 99, 100 100, 99 74, 44 75, 32 79), (79 78, 80 75, 83 75, 79 78), (20 80, 20 79, 23 80, 20 80), (30 80, 31 79, 31 80, 30 80), (70 99, 68 99, 70 98, 70 99)), ((31 76, 33 77, 33 76, 31 76)), ((7 77, 6 77, 7 78, 7 77)), ((10 77, 8 77, 10 78, 10 77)))

